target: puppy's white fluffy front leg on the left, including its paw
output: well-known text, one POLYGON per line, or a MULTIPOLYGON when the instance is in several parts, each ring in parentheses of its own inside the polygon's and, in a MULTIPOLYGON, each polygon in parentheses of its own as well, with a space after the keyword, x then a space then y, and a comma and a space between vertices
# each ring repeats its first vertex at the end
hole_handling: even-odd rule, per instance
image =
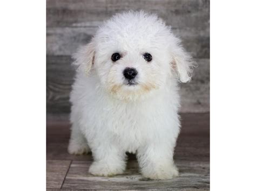
POLYGON ((117 146, 102 143, 97 148, 92 148, 94 162, 89 168, 89 172, 97 176, 112 176, 122 174, 125 171, 125 152, 117 146))

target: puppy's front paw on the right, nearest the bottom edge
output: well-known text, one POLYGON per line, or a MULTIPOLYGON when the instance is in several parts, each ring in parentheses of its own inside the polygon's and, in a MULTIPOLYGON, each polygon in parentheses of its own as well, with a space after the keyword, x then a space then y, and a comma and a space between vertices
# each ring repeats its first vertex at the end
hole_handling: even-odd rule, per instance
POLYGON ((166 180, 166 179, 172 179, 178 176, 179 171, 175 165, 157 166, 157 167, 151 167, 151 169, 144 168, 142 170, 142 175, 145 178, 150 178, 153 180, 166 180))

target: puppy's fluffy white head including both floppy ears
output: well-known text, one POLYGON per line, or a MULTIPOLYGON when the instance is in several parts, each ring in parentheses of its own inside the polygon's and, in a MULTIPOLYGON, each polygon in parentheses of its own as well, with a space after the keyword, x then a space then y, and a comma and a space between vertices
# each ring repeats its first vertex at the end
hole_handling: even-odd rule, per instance
POLYGON ((124 100, 150 95, 170 77, 190 81, 193 64, 171 28, 143 11, 113 16, 74 57, 80 70, 124 100))

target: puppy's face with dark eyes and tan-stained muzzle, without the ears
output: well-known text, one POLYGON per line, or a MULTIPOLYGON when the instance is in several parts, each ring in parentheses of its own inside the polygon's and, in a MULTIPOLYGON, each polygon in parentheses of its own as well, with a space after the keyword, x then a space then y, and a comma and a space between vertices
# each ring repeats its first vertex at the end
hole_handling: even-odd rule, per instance
POLYGON ((98 44, 95 70, 111 94, 130 100, 164 85, 170 75, 169 54, 166 48, 145 37, 145 32, 137 40, 122 38, 122 32, 98 44))

